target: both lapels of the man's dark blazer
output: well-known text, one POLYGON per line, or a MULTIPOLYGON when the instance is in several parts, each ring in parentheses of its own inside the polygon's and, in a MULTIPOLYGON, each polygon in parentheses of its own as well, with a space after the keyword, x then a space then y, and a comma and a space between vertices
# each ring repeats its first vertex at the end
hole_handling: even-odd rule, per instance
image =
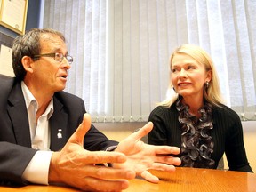
MULTIPOLYGON (((31 148, 31 138, 28 124, 28 112, 20 83, 15 84, 9 97, 8 113, 13 124, 13 131, 18 145, 31 148)), ((53 97, 54 112, 50 118, 51 150, 57 151, 67 142, 68 115, 63 105, 53 97)))

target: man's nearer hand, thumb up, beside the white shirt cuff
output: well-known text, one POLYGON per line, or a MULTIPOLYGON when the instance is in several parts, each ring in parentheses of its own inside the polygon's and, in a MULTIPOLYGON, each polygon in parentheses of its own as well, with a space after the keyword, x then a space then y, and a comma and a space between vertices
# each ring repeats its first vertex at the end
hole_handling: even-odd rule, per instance
POLYGON ((66 183, 83 190, 121 191, 128 188, 136 173, 129 168, 108 168, 96 164, 124 163, 126 156, 118 152, 85 150, 84 135, 91 127, 91 117, 84 115, 82 124, 60 152, 54 152, 49 170, 49 183, 66 183))

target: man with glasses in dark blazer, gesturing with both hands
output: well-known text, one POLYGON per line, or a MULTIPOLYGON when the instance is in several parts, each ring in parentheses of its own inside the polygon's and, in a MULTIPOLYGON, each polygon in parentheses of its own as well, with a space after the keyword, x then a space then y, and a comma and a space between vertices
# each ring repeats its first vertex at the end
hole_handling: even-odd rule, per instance
POLYGON ((140 141, 152 123, 119 144, 91 125, 84 101, 62 91, 72 61, 58 31, 35 28, 14 40, 16 77, 0 76, 1 182, 119 191, 136 175, 157 183, 148 169, 174 171, 180 159, 169 155, 179 148, 140 141))

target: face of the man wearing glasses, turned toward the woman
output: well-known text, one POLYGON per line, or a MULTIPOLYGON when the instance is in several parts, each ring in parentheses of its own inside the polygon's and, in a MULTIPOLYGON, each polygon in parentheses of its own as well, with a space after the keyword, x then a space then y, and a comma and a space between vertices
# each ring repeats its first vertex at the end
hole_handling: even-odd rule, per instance
MULTIPOLYGON (((40 38, 41 52, 45 53, 62 53, 68 54, 67 46, 59 36, 44 34, 40 38)), ((40 57, 35 61, 33 67, 32 81, 37 88, 42 88, 44 92, 59 92, 66 86, 68 69, 70 65, 64 57, 62 61, 55 60, 54 57, 40 57), (40 87, 38 87, 40 86, 40 87)))

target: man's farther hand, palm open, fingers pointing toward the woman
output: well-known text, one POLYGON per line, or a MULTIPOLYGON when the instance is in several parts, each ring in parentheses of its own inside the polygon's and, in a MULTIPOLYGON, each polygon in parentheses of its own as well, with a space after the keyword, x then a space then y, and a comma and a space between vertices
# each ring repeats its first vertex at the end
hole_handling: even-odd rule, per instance
POLYGON ((148 172, 148 170, 154 169, 165 172, 175 171, 174 165, 180 165, 181 161, 180 158, 172 157, 170 155, 180 154, 180 148, 153 146, 142 142, 140 139, 147 135, 152 128, 153 124, 149 122, 138 132, 133 132, 118 144, 115 151, 124 153, 127 157, 127 161, 124 164, 114 164, 114 167, 129 167, 134 170, 138 176, 141 176, 150 182, 157 183, 159 179, 148 172))

